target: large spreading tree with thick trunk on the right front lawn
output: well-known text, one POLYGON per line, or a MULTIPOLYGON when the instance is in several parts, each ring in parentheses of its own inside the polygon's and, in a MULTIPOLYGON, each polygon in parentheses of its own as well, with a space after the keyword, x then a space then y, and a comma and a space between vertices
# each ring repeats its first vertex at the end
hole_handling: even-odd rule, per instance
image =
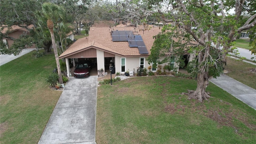
MULTIPOLYGON (((222 62, 232 52, 232 42, 239 32, 256 24, 255 1, 249 0, 149 0, 152 14, 170 22, 159 36, 149 57, 150 61, 163 54, 176 54, 176 49, 195 54, 190 71, 196 74, 197 88, 189 91, 189 98, 202 102, 209 98, 205 92, 209 80, 220 75, 222 62), (163 3, 165 5, 163 5, 163 3), (234 8, 234 15, 228 11, 234 8), (165 10, 165 11, 163 11, 165 10), (241 26, 239 17, 243 12, 249 18, 241 26)), ((178 58, 179 59, 179 58, 178 58)), ((170 62, 170 58, 164 62, 170 62)))

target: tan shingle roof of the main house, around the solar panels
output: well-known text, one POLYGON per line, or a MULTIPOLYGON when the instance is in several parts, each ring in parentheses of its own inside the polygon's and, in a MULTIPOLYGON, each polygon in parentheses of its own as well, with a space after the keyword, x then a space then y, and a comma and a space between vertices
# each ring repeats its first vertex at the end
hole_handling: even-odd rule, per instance
POLYGON ((103 51, 126 57, 149 55, 140 54, 138 48, 131 48, 128 42, 113 42, 111 36, 112 30, 132 31, 134 35, 141 35, 149 54, 154 43, 153 36, 156 36, 159 32, 161 32, 161 28, 156 26, 148 26, 147 30, 143 30, 143 27, 91 27, 88 37, 78 39, 70 46, 70 48, 63 52, 59 58, 65 58, 66 56, 70 56, 91 47, 99 48, 103 51))

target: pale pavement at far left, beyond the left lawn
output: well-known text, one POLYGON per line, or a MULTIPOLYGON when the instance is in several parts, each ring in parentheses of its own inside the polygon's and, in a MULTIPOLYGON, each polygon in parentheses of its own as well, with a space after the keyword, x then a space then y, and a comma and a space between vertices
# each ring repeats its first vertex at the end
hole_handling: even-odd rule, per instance
POLYGON ((18 56, 14 56, 14 54, 7 55, 7 54, 0 54, 0 66, 3 64, 6 64, 7 62, 10 62, 16 58, 19 58, 20 56, 23 56, 24 54, 27 54, 31 52, 32 50, 36 50, 36 48, 26 48, 22 50, 22 52, 18 56))

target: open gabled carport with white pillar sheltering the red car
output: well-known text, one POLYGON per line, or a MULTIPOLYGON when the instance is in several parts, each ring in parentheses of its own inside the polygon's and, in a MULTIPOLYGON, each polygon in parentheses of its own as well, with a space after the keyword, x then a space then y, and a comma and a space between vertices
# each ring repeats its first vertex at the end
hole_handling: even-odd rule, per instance
POLYGON ((114 63, 115 54, 104 50, 104 46, 99 43, 94 41, 85 43, 82 39, 79 39, 59 56, 59 59, 61 58, 65 58, 68 77, 70 77, 70 74, 74 76, 74 67, 80 60, 90 60, 93 64, 90 75, 97 76, 98 70, 103 69, 104 72, 109 70, 109 62, 106 62, 106 60, 112 60, 114 63))

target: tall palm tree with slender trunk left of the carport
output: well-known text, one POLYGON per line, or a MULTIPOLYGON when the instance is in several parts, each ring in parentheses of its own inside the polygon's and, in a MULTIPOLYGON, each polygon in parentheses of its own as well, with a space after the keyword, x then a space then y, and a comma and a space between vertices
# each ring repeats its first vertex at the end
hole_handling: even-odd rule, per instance
POLYGON ((47 20, 47 27, 50 30, 51 38, 52 38, 52 48, 54 50, 54 56, 57 64, 59 82, 63 83, 62 74, 60 70, 60 61, 58 56, 58 50, 56 47, 55 37, 54 37, 54 23, 58 23, 62 20, 64 16, 64 9, 56 4, 52 4, 46 2, 42 4, 42 16, 47 20))

